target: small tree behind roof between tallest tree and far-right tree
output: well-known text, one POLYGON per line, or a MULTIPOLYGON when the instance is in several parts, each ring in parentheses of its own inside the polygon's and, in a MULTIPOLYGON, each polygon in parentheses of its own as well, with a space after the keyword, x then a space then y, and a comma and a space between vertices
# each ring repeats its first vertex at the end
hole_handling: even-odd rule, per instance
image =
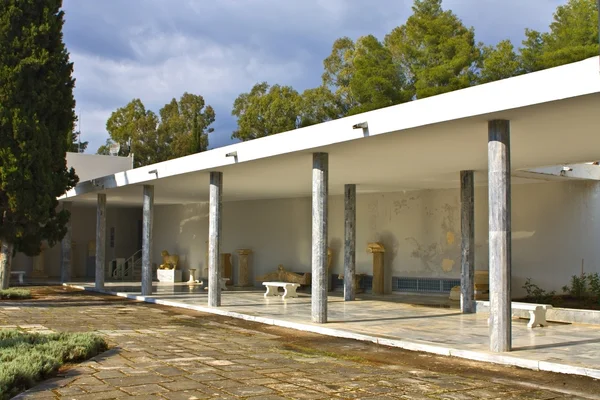
POLYGON ((482 48, 482 67, 478 82, 487 83, 521 73, 521 60, 510 40, 482 48))

